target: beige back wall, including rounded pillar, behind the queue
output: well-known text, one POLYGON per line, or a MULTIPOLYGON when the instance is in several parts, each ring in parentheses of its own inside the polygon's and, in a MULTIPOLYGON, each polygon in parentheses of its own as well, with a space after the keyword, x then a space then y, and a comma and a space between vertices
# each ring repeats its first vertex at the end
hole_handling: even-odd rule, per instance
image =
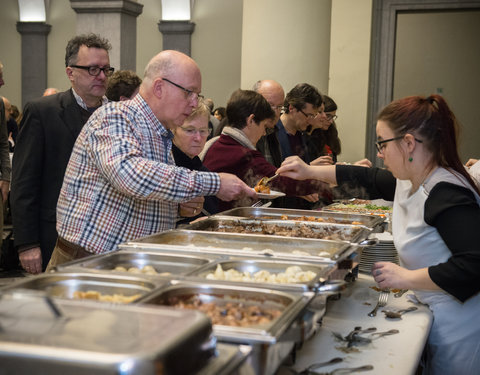
MULTIPOLYGON (((162 48, 159 0, 139 0, 137 73, 162 48)), ((203 76, 203 93, 225 105, 237 88, 258 79, 278 80, 286 91, 308 82, 339 104, 342 160, 363 157, 371 0, 197 0, 192 57, 203 76)), ((64 54, 75 34, 68 0, 51 0, 47 22, 48 85, 67 89, 64 54)), ((0 60, 7 84, 0 95, 20 103, 20 35, 17 0, 2 0, 0 60), (8 53, 5 53, 8 51, 8 53)))

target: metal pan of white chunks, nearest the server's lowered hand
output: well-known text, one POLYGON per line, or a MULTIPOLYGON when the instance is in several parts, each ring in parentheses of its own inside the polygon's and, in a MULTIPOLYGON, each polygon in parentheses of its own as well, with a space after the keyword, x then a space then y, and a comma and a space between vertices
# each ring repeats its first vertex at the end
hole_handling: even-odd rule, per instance
MULTIPOLYGON (((272 289, 301 289, 303 291, 316 291, 327 279, 334 269, 332 264, 312 264, 278 259, 255 259, 251 257, 231 257, 218 259, 208 265, 197 269, 190 274, 205 280, 233 282, 243 285, 259 286, 272 289), (310 280, 293 280, 286 275, 289 267, 298 267, 303 272, 311 272, 310 280), (232 272, 235 277, 232 277, 232 272), (268 275, 266 274, 268 273, 268 275), (257 278, 255 275, 257 274, 257 278), (260 275, 261 274, 261 275, 260 275), (270 278, 268 279, 268 276, 270 278)), ((298 273, 295 273, 298 276, 298 273)))

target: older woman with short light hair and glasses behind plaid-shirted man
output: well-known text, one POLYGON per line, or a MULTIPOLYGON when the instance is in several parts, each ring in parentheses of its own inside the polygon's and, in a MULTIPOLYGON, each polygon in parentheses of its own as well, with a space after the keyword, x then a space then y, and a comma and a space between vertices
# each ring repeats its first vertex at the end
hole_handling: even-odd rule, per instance
MULTIPOLYGON (((199 100, 197 108, 187 117, 183 125, 173 130, 172 153, 176 165, 195 171, 209 171, 198 157, 210 134, 209 119, 210 109, 202 100, 199 100)), ((196 200, 198 203, 203 203, 203 209, 197 210, 194 200, 180 204, 180 216, 188 218, 180 220, 177 224, 185 224, 205 214, 218 212, 217 197, 198 197, 196 200), (190 210, 192 204, 194 205, 192 206, 193 217, 190 210)))

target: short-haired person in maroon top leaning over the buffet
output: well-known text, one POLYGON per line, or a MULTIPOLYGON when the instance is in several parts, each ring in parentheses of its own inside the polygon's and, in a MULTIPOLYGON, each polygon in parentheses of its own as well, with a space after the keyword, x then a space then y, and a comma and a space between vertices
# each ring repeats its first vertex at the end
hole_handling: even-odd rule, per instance
MULTIPOLYGON (((222 135, 204 150, 204 165, 214 172, 229 172, 237 175, 246 184, 254 186, 262 177, 271 177, 277 168, 256 150, 255 145, 265 134, 265 125, 275 119, 275 113, 267 100, 251 90, 235 91, 227 104, 228 126, 222 135)), ((318 181, 296 181, 278 177, 270 182, 273 190, 287 196, 303 196, 320 193, 328 186, 318 181)), ((251 199, 220 202, 220 209, 246 206, 251 199)))

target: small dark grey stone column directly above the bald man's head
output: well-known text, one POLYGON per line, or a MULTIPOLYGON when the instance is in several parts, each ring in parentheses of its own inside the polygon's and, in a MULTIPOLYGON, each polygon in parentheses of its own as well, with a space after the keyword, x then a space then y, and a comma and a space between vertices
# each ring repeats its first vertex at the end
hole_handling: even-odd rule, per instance
POLYGON ((174 49, 191 56, 194 29, 195 24, 190 21, 160 21, 158 30, 163 34, 163 49, 174 49))

